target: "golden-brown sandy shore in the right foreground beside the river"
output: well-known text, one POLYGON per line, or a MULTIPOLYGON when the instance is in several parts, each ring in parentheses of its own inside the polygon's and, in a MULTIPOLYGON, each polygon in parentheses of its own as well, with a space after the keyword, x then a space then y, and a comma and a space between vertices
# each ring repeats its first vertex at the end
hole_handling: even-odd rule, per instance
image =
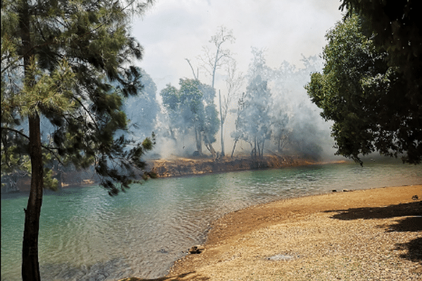
POLYGON ((411 185, 242 209, 158 280, 422 280, 421 198, 411 185))

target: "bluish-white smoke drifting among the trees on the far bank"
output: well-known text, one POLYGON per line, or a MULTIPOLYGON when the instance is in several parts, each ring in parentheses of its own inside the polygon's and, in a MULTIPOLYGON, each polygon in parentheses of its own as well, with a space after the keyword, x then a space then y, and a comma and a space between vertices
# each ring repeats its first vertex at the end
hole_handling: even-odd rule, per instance
MULTIPOLYGON (((271 68, 265 60, 265 52, 252 48, 252 60, 245 75, 246 83, 244 83, 241 91, 244 93, 243 96, 248 96, 248 91, 252 88, 255 89, 255 93, 249 96, 246 101, 245 98, 243 100, 243 103, 250 103, 248 110, 245 110, 245 104, 243 104, 243 110, 240 108, 239 98, 242 95, 234 98, 229 107, 229 113, 224 123, 226 155, 231 154, 235 142, 235 155, 249 155, 251 150, 254 149, 252 134, 255 132, 262 134, 258 143, 262 144, 264 154, 298 155, 312 159, 333 157, 330 124, 324 122, 324 119, 319 115, 319 108, 311 102, 304 88, 305 84, 309 82, 310 74, 322 70, 323 61, 318 56, 302 57, 301 64, 302 67, 296 67, 284 61, 279 67, 271 68), (253 86, 253 83, 258 83, 257 81, 259 81, 260 86, 253 86), (260 89, 267 91, 267 98, 264 98, 263 93, 260 93, 260 89), (266 117, 262 116, 263 112, 267 115, 266 117), (260 115, 259 118, 258 115, 260 115), (241 129, 239 124, 243 124, 245 127, 241 129)), ((156 87, 151 77, 146 73, 143 77, 146 79, 143 81, 146 85, 144 89, 146 94, 137 98, 137 100, 128 100, 127 115, 132 120, 144 124, 139 127, 134 136, 141 138, 148 136, 151 131, 155 131, 156 145, 150 156, 162 158, 190 157, 196 155, 200 149, 205 155, 211 155, 211 150, 205 149, 207 148, 205 130, 200 135, 200 142, 203 146, 198 148, 198 129, 196 128, 198 128, 199 117, 198 112, 192 110, 193 102, 201 103, 200 105, 195 104, 196 110, 198 108, 204 109, 207 106, 218 110, 215 105, 219 103, 219 100, 218 96, 215 96, 215 92, 212 92, 211 95, 210 87, 201 84, 203 86, 200 93, 196 93, 197 99, 189 100, 188 103, 185 101, 184 107, 181 107, 179 102, 178 107, 170 108, 169 99, 180 98, 177 95, 179 95, 178 91, 182 91, 182 89, 179 90, 177 87, 167 85, 166 89, 160 91, 160 98, 165 100, 165 103, 163 103, 158 98, 154 99, 156 87), (200 95, 204 95, 206 98, 200 97, 200 95), (200 101, 198 101, 198 97, 200 97, 200 101), (212 100, 214 100, 214 105, 212 105, 212 100)), ((222 85, 224 78, 226 77, 223 75, 217 77, 216 87, 222 85)), ((181 83, 188 80, 181 79, 181 83)), ((184 84, 180 85, 180 88, 184 87, 183 91, 193 91, 193 89, 186 90, 184 84)), ((198 91, 198 89, 195 89, 195 91, 198 91)), ((222 96, 224 96, 224 91, 222 91, 222 96)), ((177 103, 174 102, 174 104, 177 103)), ((206 110, 203 112, 206 112, 206 110)), ((216 114, 215 111, 212 112, 214 112, 214 115, 216 114)), ((217 117, 214 116, 213 118, 217 117)), ((214 119, 213 122, 218 123, 219 120, 214 119)), ((203 124, 201 126, 211 125, 203 124)), ((208 135, 208 137, 212 140, 213 149, 217 152, 221 151, 219 131, 212 131, 212 135, 208 135)))

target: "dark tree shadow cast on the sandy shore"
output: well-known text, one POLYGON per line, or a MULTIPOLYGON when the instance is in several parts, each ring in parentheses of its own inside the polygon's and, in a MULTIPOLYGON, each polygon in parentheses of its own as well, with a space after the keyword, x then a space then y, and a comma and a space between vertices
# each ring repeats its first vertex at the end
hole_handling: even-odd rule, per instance
MULTIPOLYGON (((379 226, 386 228, 387 232, 421 232, 422 231, 422 201, 410 202, 406 204, 396 204, 385 207, 362 207, 325 211, 326 213, 338 212, 331 218, 342 221, 354 219, 376 219, 376 218, 397 218, 396 223, 389 226, 379 226)), ((401 254, 400 258, 410 261, 422 261, 422 237, 418 237, 408 243, 396 244, 396 249, 407 250, 406 254, 401 254)))

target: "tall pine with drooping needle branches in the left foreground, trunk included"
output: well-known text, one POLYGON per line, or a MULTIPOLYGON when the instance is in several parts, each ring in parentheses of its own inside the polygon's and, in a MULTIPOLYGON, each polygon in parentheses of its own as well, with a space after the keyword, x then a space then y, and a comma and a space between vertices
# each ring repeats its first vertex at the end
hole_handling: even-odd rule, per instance
POLYGON ((145 7, 136 1, 1 2, 1 166, 30 158, 23 280, 40 280, 42 194, 46 183, 56 184, 44 162, 94 164, 110 195, 143 175, 141 156, 153 142, 116 133, 127 129, 122 96, 141 89, 132 63, 141 59, 142 48, 129 35, 129 15, 145 7), (42 138, 41 120, 53 125, 51 141, 42 138))

